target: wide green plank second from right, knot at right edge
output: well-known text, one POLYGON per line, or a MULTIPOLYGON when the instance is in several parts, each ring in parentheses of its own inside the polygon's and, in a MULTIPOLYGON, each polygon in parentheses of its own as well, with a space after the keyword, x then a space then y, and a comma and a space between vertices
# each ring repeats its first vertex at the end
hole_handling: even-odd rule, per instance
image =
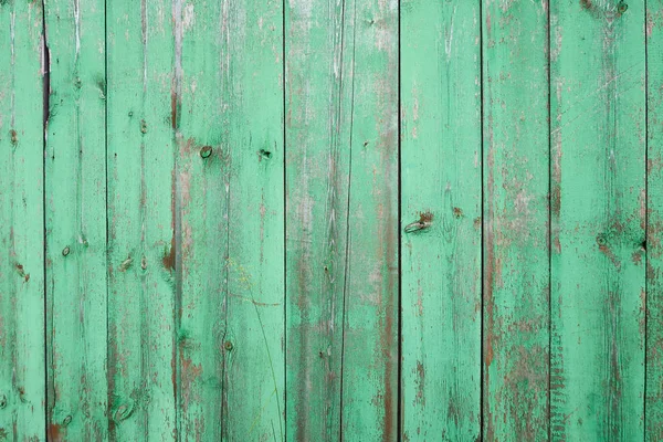
POLYGON ((642 440, 644 9, 551 4, 551 436, 642 440))

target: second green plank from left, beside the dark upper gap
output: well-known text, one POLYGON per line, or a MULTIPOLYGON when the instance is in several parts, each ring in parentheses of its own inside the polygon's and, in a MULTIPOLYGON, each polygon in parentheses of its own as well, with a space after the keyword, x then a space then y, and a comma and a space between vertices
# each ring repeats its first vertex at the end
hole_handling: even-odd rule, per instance
POLYGON ((48 425, 103 440, 106 419, 106 54, 104 2, 45 4, 48 425))

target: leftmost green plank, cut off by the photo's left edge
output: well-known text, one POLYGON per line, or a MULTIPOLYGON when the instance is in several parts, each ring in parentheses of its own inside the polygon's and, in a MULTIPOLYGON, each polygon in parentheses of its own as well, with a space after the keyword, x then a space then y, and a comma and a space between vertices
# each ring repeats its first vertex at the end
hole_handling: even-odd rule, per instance
POLYGON ((43 15, 0 2, 0 439, 44 440, 43 15))

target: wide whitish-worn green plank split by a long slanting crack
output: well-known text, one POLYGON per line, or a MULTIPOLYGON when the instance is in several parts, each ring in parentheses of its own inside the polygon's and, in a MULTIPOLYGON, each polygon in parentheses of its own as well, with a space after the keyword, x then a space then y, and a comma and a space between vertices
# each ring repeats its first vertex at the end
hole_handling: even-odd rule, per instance
POLYGON ((292 0, 285 21, 287 435, 393 440, 398 2, 292 0))

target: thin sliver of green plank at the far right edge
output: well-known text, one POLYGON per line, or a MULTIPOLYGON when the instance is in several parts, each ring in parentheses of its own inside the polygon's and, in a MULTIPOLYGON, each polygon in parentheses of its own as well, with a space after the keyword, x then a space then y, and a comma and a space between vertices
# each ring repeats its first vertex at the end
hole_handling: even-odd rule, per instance
POLYGON ((663 440, 663 1, 646 2, 645 440, 663 440))

